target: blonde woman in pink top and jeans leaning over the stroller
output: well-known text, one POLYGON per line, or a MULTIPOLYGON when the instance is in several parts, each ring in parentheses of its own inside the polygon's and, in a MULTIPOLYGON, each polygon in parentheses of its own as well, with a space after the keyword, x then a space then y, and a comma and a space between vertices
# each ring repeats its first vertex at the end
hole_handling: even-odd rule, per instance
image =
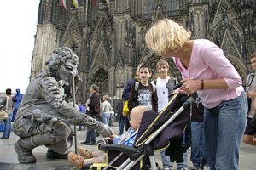
POLYGON ((207 165, 238 169, 239 148, 247 123, 247 98, 241 77, 223 50, 206 39, 190 40, 190 31, 170 19, 148 30, 148 48, 173 59, 183 77, 180 92, 197 92, 204 110, 207 165))

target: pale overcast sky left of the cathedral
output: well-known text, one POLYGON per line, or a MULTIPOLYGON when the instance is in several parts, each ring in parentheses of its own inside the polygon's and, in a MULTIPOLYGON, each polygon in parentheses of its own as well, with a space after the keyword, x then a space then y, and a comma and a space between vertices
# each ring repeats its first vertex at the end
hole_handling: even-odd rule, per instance
POLYGON ((39 0, 3 1, 0 6, 0 92, 29 82, 34 35, 37 31, 39 0))

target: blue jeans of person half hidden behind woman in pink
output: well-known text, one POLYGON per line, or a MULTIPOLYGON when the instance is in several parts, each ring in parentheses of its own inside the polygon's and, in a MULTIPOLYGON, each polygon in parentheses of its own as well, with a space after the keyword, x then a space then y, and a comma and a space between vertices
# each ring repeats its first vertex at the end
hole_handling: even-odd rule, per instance
POLYGON ((191 122, 190 160, 195 167, 200 167, 202 161, 206 160, 204 122, 191 122))

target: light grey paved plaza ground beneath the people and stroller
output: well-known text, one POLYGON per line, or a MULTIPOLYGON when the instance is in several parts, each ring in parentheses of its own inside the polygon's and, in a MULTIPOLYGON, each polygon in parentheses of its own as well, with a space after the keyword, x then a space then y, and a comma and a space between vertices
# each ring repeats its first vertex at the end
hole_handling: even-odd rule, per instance
MULTIPOLYGON (((117 125, 118 122, 114 122, 113 124, 113 132, 118 134, 119 127, 117 125)), ((77 131, 77 145, 78 147, 86 147, 89 149, 96 149, 96 146, 87 146, 84 144, 80 144, 80 142, 84 141, 86 131, 77 131)), ((37 158, 37 163, 35 164, 20 164, 14 149, 15 141, 17 141, 18 137, 12 133, 10 139, 0 139, 0 170, 71 170, 75 169, 67 160, 49 160, 46 159, 45 154, 47 148, 44 146, 39 146, 38 148, 32 150, 33 154, 37 158)), ((97 139, 100 139, 98 137, 97 139)), ((74 150, 74 145, 72 150, 74 150)), ((190 155, 190 150, 188 150, 188 158, 190 155)), ((160 164, 160 153, 155 152, 154 154, 155 160, 160 164)), ((191 161, 188 162, 189 167, 191 167, 191 161)), ((176 170, 177 167, 172 167, 172 170, 176 170)), ((241 144, 240 150, 240 170, 256 170, 256 147, 241 144)))

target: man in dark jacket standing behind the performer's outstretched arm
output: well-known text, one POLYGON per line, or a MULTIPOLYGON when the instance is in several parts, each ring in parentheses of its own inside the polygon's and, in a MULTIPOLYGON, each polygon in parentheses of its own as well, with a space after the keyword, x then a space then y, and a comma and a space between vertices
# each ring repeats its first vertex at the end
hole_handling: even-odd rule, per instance
MULTIPOLYGON (((88 99, 86 103, 87 107, 89 107, 88 115, 96 118, 96 116, 100 116, 101 114, 101 102, 99 98, 99 94, 97 93, 96 84, 92 84, 90 86, 90 99, 88 99)), ((86 145, 96 145, 96 130, 87 128, 86 140, 81 142, 81 144, 86 145)))

